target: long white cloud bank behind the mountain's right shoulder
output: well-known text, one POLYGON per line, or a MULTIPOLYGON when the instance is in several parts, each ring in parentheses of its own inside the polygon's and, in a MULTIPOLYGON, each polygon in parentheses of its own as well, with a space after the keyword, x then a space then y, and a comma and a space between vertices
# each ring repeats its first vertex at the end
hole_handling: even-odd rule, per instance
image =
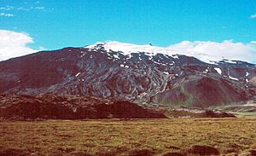
POLYGON ((226 40, 221 43, 212 41, 183 41, 172 44, 169 48, 183 51, 183 53, 194 54, 199 59, 210 56, 212 60, 256 61, 256 41, 250 43, 234 43, 232 40, 226 40))

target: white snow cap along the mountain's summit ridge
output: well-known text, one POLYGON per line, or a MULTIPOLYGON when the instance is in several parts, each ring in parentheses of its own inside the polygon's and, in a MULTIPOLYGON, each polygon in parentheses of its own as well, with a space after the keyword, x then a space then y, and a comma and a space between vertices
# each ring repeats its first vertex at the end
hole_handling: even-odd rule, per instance
POLYGON ((201 61, 216 64, 218 61, 223 61, 224 58, 215 57, 212 55, 205 55, 201 53, 196 53, 192 51, 182 51, 181 49, 175 48, 165 48, 165 47, 157 47, 153 46, 151 43, 145 45, 137 45, 132 43, 120 43, 116 41, 111 42, 99 42, 93 45, 89 45, 84 47, 85 49, 105 49, 106 51, 119 51, 122 52, 124 55, 131 55, 131 53, 138 53, 138 52, 145 52, 148 55, 187 55, 193 56, 201 61))

